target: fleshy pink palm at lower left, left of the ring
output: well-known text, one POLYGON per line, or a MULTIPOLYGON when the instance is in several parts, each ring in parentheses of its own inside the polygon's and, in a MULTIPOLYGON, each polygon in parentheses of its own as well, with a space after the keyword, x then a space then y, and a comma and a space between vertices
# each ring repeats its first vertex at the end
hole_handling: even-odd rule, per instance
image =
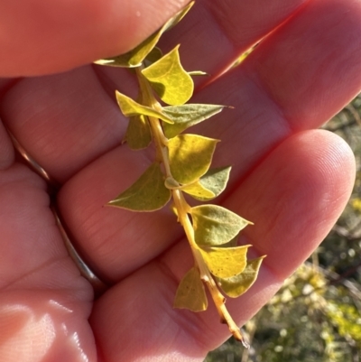
POLYGON ((17 163, 0 171, 0 233, 1 360, 95 361, 92 290, 62 243, 44 182, 17 163))

